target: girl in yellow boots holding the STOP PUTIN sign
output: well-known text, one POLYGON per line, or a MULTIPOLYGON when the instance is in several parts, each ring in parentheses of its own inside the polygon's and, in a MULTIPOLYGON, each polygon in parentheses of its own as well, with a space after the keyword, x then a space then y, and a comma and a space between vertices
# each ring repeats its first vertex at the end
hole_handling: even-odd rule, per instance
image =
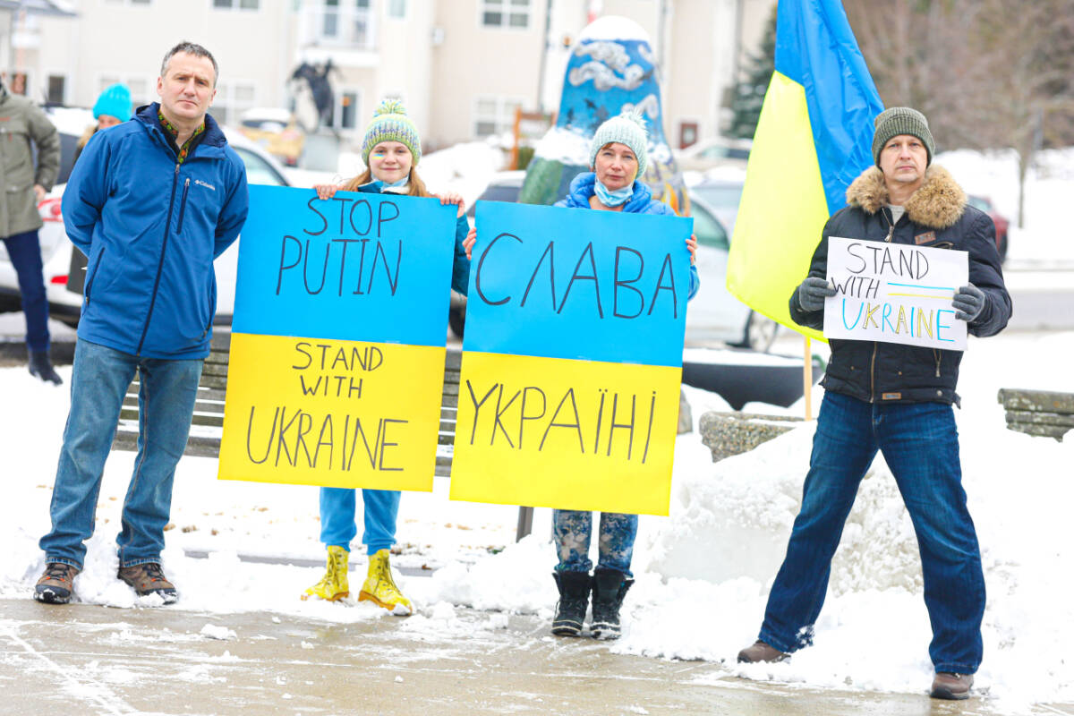
MULTIPOLYGON (((319 199, 332 199, 336 191, 363 193, 394 193, 407 196, 437 196, 431 193, 418 176, 421 159, 421 140, 418 130, 406 115, 403 104, 384 100, 373 115, 362 141, 362 161, 366 170, 340 186, 318 185, 319 199)), ((463 249, 469 224, 459 194, 437 196, 441 204, 459 206, 455 224, 455 261, 451 274, 451 288, 465 294, 469 284, 469 260, 463 249)), ((445 237, 447 239, 447 237, 445 237)), ((389 555, 395 543, 395 521, 400 508, 400 492, 389 489, 362 489, 365 529, 362 542, 369 557, 368 574, 359 591, 359 601, 372 601, 393 614, 408 616, 413 604, 407 599, 392 578, 389 555)), ((321 487, 321 541, 328 547, 328 568, 321 581, 306 589, 303 599, 318 597, 329 601, 343 599, 350 594, 347 565, 350 542, 358 535, 354 524, 355 491, 340 487, 321 487)))

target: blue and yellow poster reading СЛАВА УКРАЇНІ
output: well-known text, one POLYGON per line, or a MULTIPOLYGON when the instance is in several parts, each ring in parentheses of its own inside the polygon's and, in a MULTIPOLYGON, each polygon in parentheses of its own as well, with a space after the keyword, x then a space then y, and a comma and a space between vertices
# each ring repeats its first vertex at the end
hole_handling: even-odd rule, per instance
POLYGON ((477 205, 452 499, 668 513, 692 224, 477 205))

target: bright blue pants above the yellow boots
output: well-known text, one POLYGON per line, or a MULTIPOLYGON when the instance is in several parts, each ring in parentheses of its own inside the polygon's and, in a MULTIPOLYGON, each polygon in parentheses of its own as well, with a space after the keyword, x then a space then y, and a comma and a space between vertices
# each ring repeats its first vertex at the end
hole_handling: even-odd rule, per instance
MULTIPOLYGON (((325 545, 340 546, 350 552, 350 542, 358 535, 354 492, 350 487, 321 487, 321 542, 325 545)), ((390 550, 395 544, 400 495, 396 489, 362 491, 365 506, 362 544, 366 554, 390 550)))

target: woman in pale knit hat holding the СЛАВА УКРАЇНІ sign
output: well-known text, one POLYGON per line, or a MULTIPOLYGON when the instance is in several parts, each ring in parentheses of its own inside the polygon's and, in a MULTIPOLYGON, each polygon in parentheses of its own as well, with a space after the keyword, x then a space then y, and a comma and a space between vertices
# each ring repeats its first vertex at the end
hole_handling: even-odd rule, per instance
MULTIPOLYGON (((670 206, 653 200, 652 193, 638 177, 645 172, 648 135, 640 114, 627 113, 612 117, 597 129, 590 143, 592 172, 579 174, 570 182, 570 193, 555 206, 655 214, 674 216, 670 206)), ((477 242, 476 230, 466 236, 464 248, 470 255, 477 242)), ((686 239, 690 250, 690 292, 693 298, 700 287, 694 266, 697 239, 686 239)), ((554 510, 552 528, 560 562, 552 572, 560 590, 552 622, 552 633, 578 637, 582 632, 585 612, 593 594, 593 620, 590 635, 594 639, 618 639, 620 609, 627 589, 634 584, 630 558, 638 535, 638 515, 603 512, 597 538, 597 566, 589 557, 593 532, 593 513, 577 510, 554 510), (590 571, 593 571, 592 576, 590 571)))

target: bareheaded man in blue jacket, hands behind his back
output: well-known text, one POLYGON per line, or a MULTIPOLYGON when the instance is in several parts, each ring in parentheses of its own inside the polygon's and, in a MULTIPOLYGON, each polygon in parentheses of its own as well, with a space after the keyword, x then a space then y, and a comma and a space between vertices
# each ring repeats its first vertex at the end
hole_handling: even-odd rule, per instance
POLYGON ((141 434, 117 539, 118 576, 139 596, 178 598, 160 566, 172 481, 208 355, 213 260, 235 240, 248 203, 245 165, 206 114, 217 76, 204 47, 173 47, 157 79, 160 103, 95 134, 63 193, 68 235, 89 263, 53 528, 41 539, 39 601, 63 604, 74 591, 135 370, 141 434))

